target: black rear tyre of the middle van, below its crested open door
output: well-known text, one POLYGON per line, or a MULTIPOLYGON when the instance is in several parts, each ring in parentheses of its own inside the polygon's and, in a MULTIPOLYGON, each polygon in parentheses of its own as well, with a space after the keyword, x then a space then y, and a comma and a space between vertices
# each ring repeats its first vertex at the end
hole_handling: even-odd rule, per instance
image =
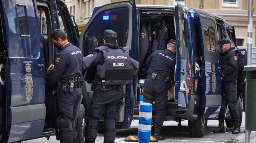
POLYGON ((207 128, 207 119, 203 119, 203 115, 198 115, 194 122, 188 120, 188 131, 192 137, 204 137, 207 128))

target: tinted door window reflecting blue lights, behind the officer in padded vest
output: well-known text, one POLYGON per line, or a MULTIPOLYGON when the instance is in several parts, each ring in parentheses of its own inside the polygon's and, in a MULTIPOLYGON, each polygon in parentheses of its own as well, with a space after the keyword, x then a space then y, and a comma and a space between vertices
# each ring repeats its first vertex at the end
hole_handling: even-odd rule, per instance
MULTIPOLYGON (((113 30, 117 33, 117 43, 119 47, 126 47, 129 28, 129 14, 129 9, 126 7, 101 12, 91 23, 88 31, 85 33, 85 37, 97 37, 98 46, 101 46, 103 45, 104 31, 107 29, 113 30)), ((84 54, 90 54, 94 48, 96 47, 87 47, 87 49, 84 49, 84 54)))

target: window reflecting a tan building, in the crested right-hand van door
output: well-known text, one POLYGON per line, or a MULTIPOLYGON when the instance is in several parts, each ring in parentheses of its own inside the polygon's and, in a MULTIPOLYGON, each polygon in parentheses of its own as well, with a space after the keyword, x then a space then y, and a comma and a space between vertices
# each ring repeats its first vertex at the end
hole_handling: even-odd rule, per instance
POLYGON ((203 24, 204 38, 208 51, 216 52, 216 39, 214 27, 203 24))

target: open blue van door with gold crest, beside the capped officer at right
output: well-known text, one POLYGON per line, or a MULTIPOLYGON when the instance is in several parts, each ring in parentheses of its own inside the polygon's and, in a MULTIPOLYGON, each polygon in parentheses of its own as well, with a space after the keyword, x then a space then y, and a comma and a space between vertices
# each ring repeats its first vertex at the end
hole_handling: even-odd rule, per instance
POLYGON ((221 106, 221 65, 215 18, 199 14, 201 37, 201 99, 204 119, 216 118, 221 106))

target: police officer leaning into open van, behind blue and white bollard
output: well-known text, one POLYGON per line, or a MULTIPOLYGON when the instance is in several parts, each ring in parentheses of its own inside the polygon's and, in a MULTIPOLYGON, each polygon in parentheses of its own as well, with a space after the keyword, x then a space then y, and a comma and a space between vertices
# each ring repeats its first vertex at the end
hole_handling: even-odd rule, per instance
POLYGON ((145 80, 144 102, 156 105, 156 119, 154 137, 157 140, 165 140, 160 136, 167 105, 167 91, 170 80, 174 78, 174 67, 176 64, 176 41, 170 40, 165 50, 156 50, 147 60, 149 66, 148 76, 145 80))

